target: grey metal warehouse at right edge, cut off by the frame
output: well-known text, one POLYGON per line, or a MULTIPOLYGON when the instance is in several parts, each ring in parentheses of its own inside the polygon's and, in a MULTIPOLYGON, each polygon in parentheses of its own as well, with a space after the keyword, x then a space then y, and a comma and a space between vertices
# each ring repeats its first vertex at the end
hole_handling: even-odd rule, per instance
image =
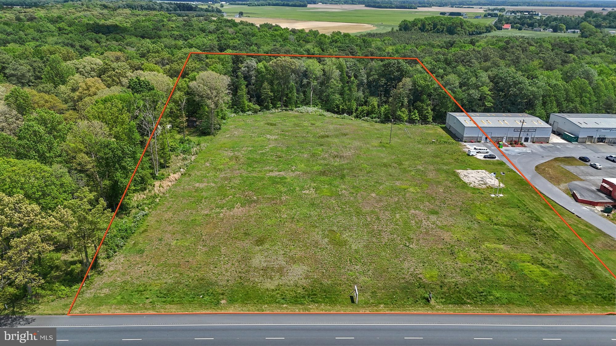
POLYGON ((549 123, 570 142, 616 143, 614 114, 552 113, 549 123))

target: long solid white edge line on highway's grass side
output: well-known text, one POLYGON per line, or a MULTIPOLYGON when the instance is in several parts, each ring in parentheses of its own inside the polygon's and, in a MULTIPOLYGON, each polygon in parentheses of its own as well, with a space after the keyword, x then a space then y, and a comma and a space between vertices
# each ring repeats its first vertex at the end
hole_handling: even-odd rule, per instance
POLYGON ((482 323, 224 323, 224 324, 120 324, 91 326, 16 326, 15 328, 116 328, 116 327, 216 327, 216 326, 488 326, 488 327, 610 327, 607 324, 482 324, 482 323))

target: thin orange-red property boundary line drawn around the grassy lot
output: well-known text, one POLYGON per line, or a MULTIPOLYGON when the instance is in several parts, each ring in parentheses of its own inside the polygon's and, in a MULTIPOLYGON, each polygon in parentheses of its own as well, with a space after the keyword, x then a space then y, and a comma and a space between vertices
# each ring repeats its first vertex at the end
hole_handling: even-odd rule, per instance
MULTIPOLYGON (((307 57, 307 58, 359 58, 359 59, 383 59, 383 60, 415 60, 416 62, 419 63, 419 65, 421 65, 421 67, 426 70, 426 72, 432 77, 432 79, 434 79, 434 81, 437 82, 437 84, 439 84, 439 86, 441 87, 441 89, 443 89, 443 91, 445 91, 445 93, 447 93, 447 95, 453 100, 453 102, 456 103, 456 105, 458 107, 460 107, 460 109, 464 112, 464 114, 466 116, 468 116, 469 119, 471 119, 472 123, 475 124, 475 126, 477 126, 477 128, 479 128, 479 131, 482 132, 482 134, 485 135, 485 137, 487 137, 488 140, 490 140, 490 143, 492 143, 492 145, 494 145, 494 147, 500 151, 501 155, 503 155, 503 157, 505 157, 507 159, 507 161, 511 164, 511 166, 514 167, 514 169, 516 169, 517 173, 520 174, 522 176, 522 178, 524 178, 524 180, 526 180, 527 183, 529 183, 530 187, 533 188, 533 190, 535 190, 535 192, 537 192, 537 194, 541 197, 541 199, 543 199, 543 201, 545 201, 546 204, 548 204, 548 206, 552 209, 552 211, 554 211, 554 213, 556 215, 558 215, 558 217, 562 220, 562 222, 565 223, 565 225, 567 225, 567 227, 569 228, 569 230, 571 230, 573 232, 573 234, 575 236, 577 236, 578 239, 580 239, 580 241, 582 241, 582 243, 584 244, 584 246, 586 246, 586 249, 588 249, 588 251, 591 252, 591 254, 594 255, 594 257, 603 265, 603 267, 605 267, 607 269, 607 271, 610 273, 610 275, 612 275, 615 279, 616 279, 616 275, 614 275, 614 272, 612 272, 612 270, 610 270, 609 267, 607 267, 607 265, 599 258, 599 256, 593 251, 593 249, 590 248, 590 246, 588 246, 588 244, 586 244, 586 242, 584 241, 584 239, 582 239, 582 237, 580 237, 580 235, 578 235, 578 233, 573 230, 573 228, 569 225, 569 223, 567 223, 567 221, 565 221, 565 219, 562 217, 561 214, 559 214, 559 212, 556 211, 556 209, 554 209, 554 207, 552 206, 552 204, 550 204, 548 202, 548 200, 539 192, 539 190, 537 190, 537 188, 535 187, 535 185, 533 185, 529 179, 527 179, 527 177, 525 177, 524 174, 522 174, 522 171, 520 171, 519 168, 517 168, 517 166, 511 161, 511 159, 509 159, 509 157, 507 155, 505 155, 505 152, 503 152, 503 150, 501 150, 500 148, 498 148, 498 145, 496 145, 496 143, 492 140, 492 138, 490 138, 490 136, 488 136, 484 129, 482 129, 481 126, 479 126, 479 124, 477 124, 477 122, 475 121, 475 119, 472 118, 471 115, 469 115, 466 110, 464 110, 464 108, 460 105, 460 103, 458 103, 458 101, 456 99, 453 98, 452 94, 450 94, 447 89, 445 89, 445 87, 443 86, 443 84, 440 84, 440 81, 434 76, 434 74, 432 74, 428 68, 426 68, 426 66, 419 60, 419 58, 405 58, 405 57, 352 57, 352 56, 347 56, 347 55, 300 55, 300 54, 256 54, 256 53, 219 53, 219 52, 190 52, 188 53, 188 57, 186 57, 186 60, 184 61, 184 66, 182 66, 182 70, 180 71, 179 75, 177 76, 176 82, 173 84, 173 88, 171 89, 171 94, 169 94, 169 97, 167 98, 167 102, 164 103, 164 107, 163 110, 160 112, 160 116, 158 116, 158 120, 156 121, 156 125, 154 126, 154 129, 156 130, 156 128, 158 127, 158 123, 160 123, 160 119, 163 118, 163 113, 164 111, 167 109, 167 106, 169 105, 169 101, 171 100, 171 96, 173 95, 174 91, 176 90, 176 86, 177 86, 177 82, 180 81, 180 78, 182 78, 182 73, 184 73, 184 69, 186 68, 186 64, 188 63, 188 60, 190 59, 190 56, 193 54, 209 54, 209 55, 243 55, 243 56, 261 56, 261 57, 307 57)), ((567 316, 567 315, 616 315, 616 312, 607 312, 607 313, 440 313, 440 312, 172 312, 172 313, 164 313, 164 312, 150 312, 150 313, 71 313, 71 310, 73 310, 73 305, 75 305, 75 301, 77 300, 77 297, 79 296, 79 293, 81 292, 81 289, 83 288, 83 284, 86 282, 87 276, 90 273, 90 270, 92 268, 92 265, 94 264, 94 260, 96 259, 97 255, 99 254, 99 250, 100 247, 103 245, 103 241, 105 241, 105 237, 107 236, 107 233, 109 231, 109 229, 111 228, 111 223, 113 223, 113 220, 115 219, 116 215, 118 214, 118 211, 120 210, 120 206, 122 204, 122 201, 124 200, 124 196, 126 196, 126 193, 128 192, 128 188, 131 186, 132 183, 132 179, 135 177, 135 174, 137 172, 137 169, 139 168, 139 164, 141 164, 142 159, 144 158, 145 155, 145 151, 148 148, 148 145, 150 145, 150 141, 152 140, 152 136, 154 135, 154 131, 152 131, 152 134, 150 134, 150 138, 148 138, 147 143, 145 143, 145 148, 144 151, 141 153, 141 157, 139 158, 139 161, 137 162, 137 166, 135 167, 134 171, 132 171, 132 175, 131 175, 131 179, 129 179, 128 184, 126 185, 126 189, 124 189, 124 193, 122 194, 122 197, 120 198, 120 202, 118 203, 118 206, 115 209, 115 212, 113 212, 113 216, 111 217, 111 220, 109 221, 109 225, 107 226, 107 230, 105 230, 105 233, 103 234, 103 238, 100 239, 100 244, 96 249, 96 252, 94 252, 94 257, 92 257, 92 261, 90 262, 89 267, 87 268, 86 271, 86 275, 84 275, 83 280, 81 280, 81 284, 79 285, 79 289, 77 290, 77 293, 75 294, 75 298, 73 298, 73 302, 71 303, 71 307, 68 309, 67 315, 68 316, 92 316, 92 315, 199 315, 199 314, 256 314, 256 313, 269 313, 269 314, 299 314, 299 313, 309 313, 309 314, 352 314, 352 313, 359 313, 359 314, 409 314, 409 315, 422 315, 422 314, 431 314, 431 315, 541 315, 541 316, 567 316)))

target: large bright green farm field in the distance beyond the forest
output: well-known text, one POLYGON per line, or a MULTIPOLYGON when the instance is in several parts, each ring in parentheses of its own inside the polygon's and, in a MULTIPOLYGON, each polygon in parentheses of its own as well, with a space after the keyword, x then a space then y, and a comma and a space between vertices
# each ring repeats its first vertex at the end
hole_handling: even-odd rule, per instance
MULTIPOLYGON (((324 6, 324 5, 320 5, 324 6)), ((369 24, 376 27, 371 32, 389 31, 393 27, 397 27, 403 19, 413 20, 415 18, 423 18, 431 15, 439 15, 440 12, 429 10, 383 10, 383 9, 330 9, 330 8, 315 8, 315 7, 282 7, 282 6, 225 6, 224 11, 227 17, 233 17, 238 12, 244 12, 245 18, 240 20, 261 20, 261 18, 280 18, 299 21, 317 21, 317 22, 338 22, 338 23, 360 23, 369 24)), ((469 18, 472 22, 491 23, 493 19, 474 19, 469 18)), ((275 24, 277 22, 270 22, 275 24)), ((282 24, 285 23, 281 23, 282 24)), ((290 26, 289 26, 290 27, 290 26)), ((328 26, 324 26, 328 28, 328 26)), ((343 28, 338 30, 343 31, 343 28)), ((331 32, 331 31, 330 31, 331 32)), ((343 31, 344 32, 344 31, 343 31)))

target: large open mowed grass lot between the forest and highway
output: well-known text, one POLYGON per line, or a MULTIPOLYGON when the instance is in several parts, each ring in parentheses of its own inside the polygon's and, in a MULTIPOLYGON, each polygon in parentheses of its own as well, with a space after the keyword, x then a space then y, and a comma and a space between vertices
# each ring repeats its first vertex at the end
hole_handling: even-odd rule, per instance
MULTIPOLYGON (((407 128, 390 145, 388 124, 230 119, 73 312, 614 310, 614 278, 521 177, 407 128), (505 197, 456 169, 506 172, 505 197)), ((558 210, 616 268, 614 239, 558 210)))

